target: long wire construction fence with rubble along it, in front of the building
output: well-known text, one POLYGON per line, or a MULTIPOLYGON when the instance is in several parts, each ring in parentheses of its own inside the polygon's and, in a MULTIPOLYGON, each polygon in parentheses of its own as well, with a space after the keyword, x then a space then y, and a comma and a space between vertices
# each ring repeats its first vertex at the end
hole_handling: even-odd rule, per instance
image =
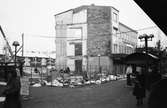
POLYGON ((82 66, 81 69, 76 67, 75 71, 72 71, 72 69, 70 69, 70 71, 67 71, 66 70, 67 66, 65 65, 59 65, 59 66, 57 65, 52 68, 42 67, 42 66, 24 67, 23 75, 29 78, 31 84, 41 83, 46 81, 46 83, 50 82, 49 85, 54 85, 56 81, 56 85, 60 84, 62 86, 64 85, 65 82, 78 79, 81 79, 80 81, 103 81, 107 80, 109 77, 110 79, 113 78, 115 79, 120 76, 124 77, 125 68, 126 68, 125 65, 115 65, 114 67, 110 66, 99 67, 98 65, 89 65, 89 66, 82 66), (60 81, 61 83, 58 83, 58 81, 60 81))

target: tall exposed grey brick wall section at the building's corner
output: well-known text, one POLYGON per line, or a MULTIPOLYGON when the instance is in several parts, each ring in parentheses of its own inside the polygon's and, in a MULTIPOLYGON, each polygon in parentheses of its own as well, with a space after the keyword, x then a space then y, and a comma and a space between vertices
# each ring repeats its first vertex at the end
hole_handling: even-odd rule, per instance
POLYGON ((87 17, 88 55, 97 56, 99 53, 107 55, 111 40, 111 8, 90 6, 87 17))

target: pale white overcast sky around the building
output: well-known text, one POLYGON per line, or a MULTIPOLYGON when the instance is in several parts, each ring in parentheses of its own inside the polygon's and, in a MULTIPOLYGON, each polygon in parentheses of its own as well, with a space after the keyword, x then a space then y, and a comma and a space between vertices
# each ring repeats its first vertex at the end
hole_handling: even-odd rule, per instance
POLYGON ((0 25, 10 43, 21 42, 24 33, 25 52, 51 52, 55 50, 54 15, 91 4, 115 7, 120 22, 134 30, 155 26, 133 0, 0 0, 0 25))

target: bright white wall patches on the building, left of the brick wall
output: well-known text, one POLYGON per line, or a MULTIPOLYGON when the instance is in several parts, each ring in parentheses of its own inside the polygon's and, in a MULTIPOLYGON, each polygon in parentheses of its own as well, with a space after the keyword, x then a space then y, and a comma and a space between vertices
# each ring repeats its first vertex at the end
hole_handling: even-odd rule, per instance
MULTIPOLYGON (((87 10, 82 10, 73 14, 73 24, 68 26, 67 29, 67 56, 74 56, 75 49, 74 44, 82 42, 82 54, 87 55, 87 10)), ((86 65, 85 58, 82 61, 83 65, 86 65)), ((75 59, 68 58, 67 65, 72 70, 75 70, 75 59)))

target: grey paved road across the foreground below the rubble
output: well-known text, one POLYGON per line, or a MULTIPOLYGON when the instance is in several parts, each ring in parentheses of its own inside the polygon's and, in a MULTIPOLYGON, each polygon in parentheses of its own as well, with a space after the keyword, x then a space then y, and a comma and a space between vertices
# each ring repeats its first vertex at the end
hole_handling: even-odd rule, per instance
MULTIPOLYGON (((137 108, 132 87, 112 81, 82 88, 31 88, 32 99, 23 108, 137 108)), ((146 102, 145 102, 146 103, 146 102)), ((146 104, 140 108, 146 108, 146 104)))

